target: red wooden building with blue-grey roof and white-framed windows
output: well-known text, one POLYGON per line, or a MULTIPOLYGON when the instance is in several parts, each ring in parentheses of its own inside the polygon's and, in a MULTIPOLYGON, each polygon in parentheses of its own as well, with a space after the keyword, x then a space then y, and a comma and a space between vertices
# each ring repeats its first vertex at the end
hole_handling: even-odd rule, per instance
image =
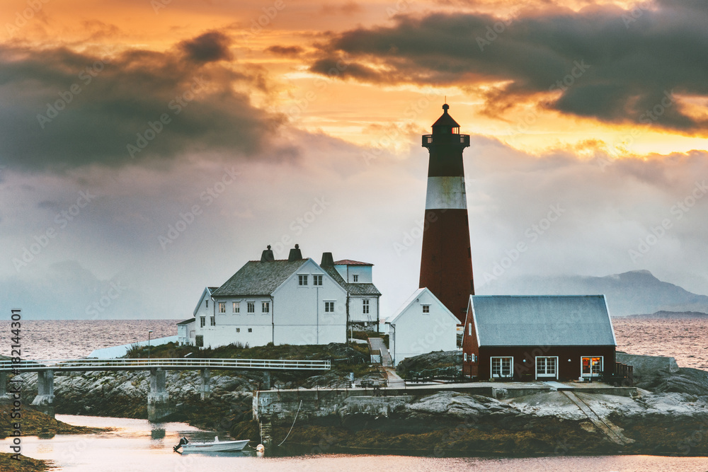
POLYGON ((615 331, 604 295, 471 296, 462 338, 465 376, 569 380, 612 374, 615 331))

